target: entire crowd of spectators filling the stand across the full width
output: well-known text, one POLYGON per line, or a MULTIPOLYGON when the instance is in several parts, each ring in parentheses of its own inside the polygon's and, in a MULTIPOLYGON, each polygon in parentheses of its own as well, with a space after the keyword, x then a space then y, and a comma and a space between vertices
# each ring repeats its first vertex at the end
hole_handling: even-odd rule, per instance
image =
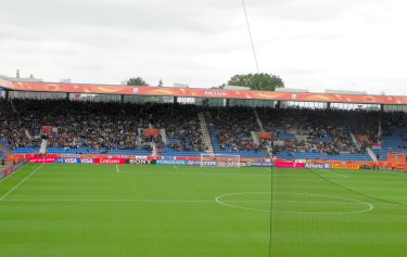
POLYGON ((251 132, 260 128, 251 107, 18 99, 13 104, 0 100, 0 139, 12 150, 39 147, 42 126, 52 126, 50 147, 152 151, 155 144, 158 152, 204 152, 200 112, 216 128, 220 151, 236 152, 271 146, 274 153, 365 153, 391 127, 406 125, 403 113, 263 107, 257 113, 272 140, 255 143, 251 132), (147 128, 166 134, 144 136, 147 128))

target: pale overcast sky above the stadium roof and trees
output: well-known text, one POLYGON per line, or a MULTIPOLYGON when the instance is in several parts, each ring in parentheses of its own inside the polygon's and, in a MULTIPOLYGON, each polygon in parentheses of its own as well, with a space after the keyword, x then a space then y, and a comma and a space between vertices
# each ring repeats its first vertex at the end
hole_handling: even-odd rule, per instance
MULTIPOLYGON (((287 88, 407 95, 407 2, 245 0, 287 88)), ((255 73, 241 0, 0 0, 0 74, 214 87, 255 73)))

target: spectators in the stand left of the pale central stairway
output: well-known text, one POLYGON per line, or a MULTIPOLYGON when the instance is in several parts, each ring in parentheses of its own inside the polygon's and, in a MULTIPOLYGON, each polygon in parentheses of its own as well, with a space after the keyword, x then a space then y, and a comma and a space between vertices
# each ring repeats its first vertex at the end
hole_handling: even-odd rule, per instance
POLYGON ((2 100, 0 104, 0 137, 12 150, 39 147, 42 126, 52 126, 49 146, 64 150, 152 151, 153 142, 161 151, 165 146, 175 151, 203 150, 198 114, 190 112, 190 106, 15 99, 18 114, 14 114, 11 102, 2 100), (147 128, 166 128, 168 137, 178 141, 165 144, 161 134, 144 136, 142 130, 147 128))

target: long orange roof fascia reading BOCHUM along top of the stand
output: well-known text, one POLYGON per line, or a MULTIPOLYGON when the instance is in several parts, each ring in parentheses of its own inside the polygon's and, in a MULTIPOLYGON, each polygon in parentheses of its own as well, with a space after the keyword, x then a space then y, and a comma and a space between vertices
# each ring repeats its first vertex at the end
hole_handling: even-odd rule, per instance
POLYGON ((407 97, 360 95, 340 93, 293 93, 253 90, 192 89, 166 87, 131 87, 91 83, 61 83, 39 81, 13 81, 0 78, 0 87, 11 91, 65 92, 92 94, 155 95, 179 98, 246 99, 297 102, 407 104, 407 97))

